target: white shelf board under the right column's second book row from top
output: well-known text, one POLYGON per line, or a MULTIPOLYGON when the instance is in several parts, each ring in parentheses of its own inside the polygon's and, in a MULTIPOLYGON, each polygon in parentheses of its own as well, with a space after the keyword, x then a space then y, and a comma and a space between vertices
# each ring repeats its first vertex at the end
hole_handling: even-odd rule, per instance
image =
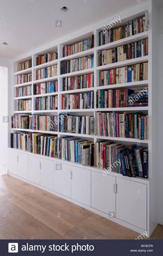
POLYGON ((96 67, 96 70, 107 70, 107 69, 111 69, 114 67, 123 67, 123 66, 127 66, 127 65, 134 65, 137 63, 144 63, 144 62, 148 62, 148 56, 142 56, 139 58, 131 58, 130 60, 127 60, 127 61, 119 61, 116 63, 98 66, 98 67, 96 67))

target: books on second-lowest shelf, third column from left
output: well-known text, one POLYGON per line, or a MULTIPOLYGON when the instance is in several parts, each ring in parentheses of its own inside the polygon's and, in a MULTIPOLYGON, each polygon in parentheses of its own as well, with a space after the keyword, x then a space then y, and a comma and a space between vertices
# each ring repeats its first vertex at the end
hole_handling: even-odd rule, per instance
POLYGON ((60 131, 94 134, 94 116, 60 115, 60 131))

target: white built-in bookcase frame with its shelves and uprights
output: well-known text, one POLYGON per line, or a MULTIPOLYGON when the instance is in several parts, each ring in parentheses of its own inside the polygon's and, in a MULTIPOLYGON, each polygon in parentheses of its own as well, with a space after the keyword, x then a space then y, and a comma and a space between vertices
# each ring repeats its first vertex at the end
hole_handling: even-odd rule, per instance
MULTIPOLYGON (((124 38, 121 40, 117 40, 115 42, 111 42, 107 45, 102 45, 102 46, 98 46, 98 31, 100 31, 100 29, 103 27, 103 24, 108 24, 108 22, 110 22, 112 19, 114 19, 114 17, 116 17, 116 15, 114 15, 114 17, 109 17, 108 19, 95 24, 94 26, 91 26, 87 29, 83 29, 82 31, 79 31, 78 33, 74 33, 73 35, 69 35, 65 38, 61 38, 61 40, 55 40, 54 42, 51 42, 51 44, 46 45, 44 47, 40 47, 38 49, 35 49, 33 52, 31 52, 30 54, 26 54, 26 56, 21 56, 17 59, 15 59, 14 63, 13 63, 13 80, 14 80, 14 88, 13 91, 15 90, 16 87, 20 87, 20 86, 27 86, 27 85, 31 85, 32 86, 32 92, 33 92, 33 84, 34 83, 43 83, 45 81, 51 81, 53 79, 58 79, 58 92, 57 93, 51 93, 50 95, 58 95, 58 110, 56 111, 35 111, 33 109, 33 100, 35 99, 35 97, 41 97, 41 96, 46 96, 46 95, 31 95, 28 97, 15 97, 15 93, 13 93, 13 102, 15 102, 17 99, 32 99, 32 110, 31 111, 15 111, 14 106, 12 109, 12 113, 31 113, 31 114, 35 114, 35 113, 55 113, 55 115, 59 115, 60 113, 84 113, 85 115, 96 115, 96 112, 98 111, 143 111, 144 113, 148 113, 149 115, 149 139, 142 141, 142 140, 138 140, 135 138, 109 138, 109 137, 105 137, 105 136, 96 136, 96 135, 85 135, 85 134, 71 134, 71 133, 62 133, 60 131, 57 132, 53 132, 53 131, 35 131, 35 132, 40 132, 40 133, 47 133, 47 134, 58 134, 58 136, 78 136, 81 138, 87 138, 91 141, 100 141, 100 140, 110 140, 110 141, 119 141, 119 143, 126 143, 126 144, 130 144, 130 143, 138 143, 140 145, 146 146, 148 147, 148 151, 149 151, 149 166, 148 166, 148 170, 149 170, 149 179, 142 179, 139 177, 123 177, 120 174, 117 173, 110 173, 110 177, 115 177, 115 179, 123 179, 126 180, 128 182, 137 182, 137 184, 144 184, 146 185, 146 230, 148 232, 148 235, 150 235, 155 226, 157 225, 157 221, 155 219, 155 213, 157 211, 157 209, 155 209, 155 207, 153 206, 153 202, 151 202, 150 200, 150 194, 154 193, 155 194, 155 180, 153 180, 153 164, 155 161, 155 154, 153 153, 153 147, 152 147, 152 142, 153 139, 155 139, 155 131, 153 131, 153 102, 155 102, 155 99, 152 98, 152 91, 153 91, 153 87, 152 87, 152 82, 153 82, 153 59, 152 59, 152 55, 153 55, 153 45, 152 45, 152 40, 153 40, 153 17, 155 17, 155 10, 153 7, 153 3, 152 1, 148 1, 146 3, 141 3, 141 4, 137 4, 137 6, 135 8, 131 8, 130 10, 126 10, 126 12, 121 13, 121 20, 122 23, 129 21, 131 19, 134 19, 135 17, 140 17, 141 15, 144 15, 144 13, 148 11, 148 15, 149 15, 149 29, 148 31, 144 31, 143 33, 139 33, 137 35, 132 35, 128 38, 124 38), (94 33, 94 48, 93 49, 89 49, 87 51, 82 51, 78 54, 73 54, 71 56, 66 56, 66 57, 62 57, 62 47, 63 45, 67 45, 67 44, 71 44, 74 42, 79 42, 80 40, 84 40, 85 38, 88 38, 88 35, 92 35, 92 33, 94 33), (119 45, 124 45, 126 43, 129 42, 135 42, 137 40, 142 40, 148 38, 148 56, 143 56, 140 58, 134 58, 134 59, 130 59, 127 61, 121 61, 118 63, 112 63, 109 65, 103 65, 98 67, 97 66, 97 52, 101 51, 102 49, 111 49, 112 47, 118 47, 119 45), (44 63, 42 65, 38 65, 36 66, 36 56, 39 54, 44 54, 44 53, 48 53, 49 51, 55 50, 58 51, 58 60, 55 61, 51 61, 50 63, 44 63), (87 70, 82 70, 82 71, 78 71, 78 72, 72 72, 69 74, 60 74, 60 62, 63 60, 69 60, 71 58, 79 58, 81 56, 87 56, 90 54, 94 54, 94 67, 87 69, 87 70), (32 59, 32 67, 29 68, 28 70, 23 70, 23 71, 19 71, 17 72, 16 67, 17 67, 17 63, 24 61, 28 58, 32 59), (112 85, 112 86, 99 86, 98 84, 98 72, 100 70, 107 70, 109 68, 112 67, 122 67, 125 65, 132 65, 135 63, 143 63, 148 61, 148 80, 147 81, 137 81, 137 82, 131 82, 131 83, 120 83, 120 84, 116 84, 116 85, 112 85), (49 65, 55 65, 58 64, 58 76, 56 77, 51 77, 49 79, 41 79, 41 80, 35 80, 35 72, 38 68, 42 68, 42 67, 47 67, 49 65), (17 74, 25 74, 27 72, 32 72, 32 77, 33 80, 31 82, 28 83, 22 83, 17 85, 15 83, 16 81, 16 77, 17 74), (61 83, 62 83, 62 78, 63 77, 72 77, 72 76, 76 76, 78 74, 87 74, 89 72, 93 72, 94 73, 94 88, 85 88, 85 89, 79 89, 79 90, 69 90, 69 91, 64 91, 62 92, 61 90, 61 83), (148 86, 148 91, 149 91, 149 96, 148 96, 148 106, 147 107, 130 107, 130 108, 112 108, 112 109, 96 109, 96 90, 101 90, 101 89, 112 89, 112 88, 141 88, 141 87, 145 87, 148 86), (62 110, 60 109, 60 97, 61 95, 64 93, 84 93, 87 91, 94 91, 94 109, 70 109, 70 110, 62 110), (151 185, 151 190, 150 190, 150 183, 152 183, 151 185), (152 213, 152 214, 151 214, 152 213)), ((13 104, 14 105, 14 104, 13 104)), ((28 129, 10 129, 10 132, 12 131, 33 131, 34 130, 28 130, 28 129)), ((19 154, 19 150, 15 150, 15 149, 9 149, 9 151, 12 152, 17 152, 17 154, 19 154)), ((22 154, 22 152, 21 152, 22 154)), ((24 152, 24 154, 26 154, 28 157, 30 157, 31 155, 34 155, 32 153, 29 152, 24 152)), ((67 166, 75 166, 76 168, 83 168, 83 170, 89 170, 91 172, 95 172, 95 173, 99 173, 99 168, 94 168, 94 167, 89 167, 89 166, 81 166, 79 164, 76 163, 71 163, 68 161, 63 161, 61 159, 50 159, 48 157, 43 157, 41 155, 37 155, 36 157, 39 157, 40 159, 49 159, 49 161, 57 161, 59 163, 65 163, 67 166)), ((14 175, 16 177, 19 177, 19 175, 15 175, 12 173, 12 171, 9 170, 9 173, 11 175, 14 175)), ((20 179, 22 179, 22 177, 19 177, 20 179)), ((25 179, 26 180, 26 179, 25 179)), ((35 182, 31 182, 26 180, 26 182, 29 182, 31 184, 35 184, 35 182)), ((39 186, 42 188, 42 186, 40 186, 39 184, 36 184, 36 186, 39 186)), ((90 184, 91 186, 91 184, 90 184)), ((57 195, 60 195, 60 193, 56 193, 53 192, 49 189, 46 188, 46 191, 50 191, 51 193, 55 193, 57 195)), ((63 195, 60 195, 63 198, 70 200, 71 202, 75 202, 78 205, 81 205, 91 211, 96 212, 97 214, 100 214, 102 216, 105 216, 105 218, 108 218, 108 215, 103 214, 102 211, 98 211, 96 209, 94 209, 91 205, 88 207, 85 204, 82 204, 80 202, 76 202, 76 200, 72 200, 70 198, 67 198, 63 195)), ((155 195, 153 195, 154 198, 155 195)), ((136 202, 135 202, 136 203, 136 202)), ((140 209, 138 209, 139 211, 140 209)), ((135 213, 136 214, 136 213, 135 213)), ((121 221, 119 220, 119 218, 112 218, 112 221, 115 221, 117 223, 120 223, 121 225, 125 225, 126 227, 131 228, 132 230, 135 230, 137 232, 144 232, 143 228, 139 228, 136 227, 134 224, 132 223, 128 223, 127 221, 121 221)))

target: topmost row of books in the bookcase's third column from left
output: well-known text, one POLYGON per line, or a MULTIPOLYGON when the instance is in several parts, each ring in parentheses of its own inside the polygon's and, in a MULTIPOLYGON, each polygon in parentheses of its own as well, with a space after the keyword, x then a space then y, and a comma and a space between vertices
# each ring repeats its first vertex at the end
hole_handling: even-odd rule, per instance
POLYGON ((92 38, 83 40, 81 42, 76 42, 74 45, 65 45, 63 47, 63 57, 69 56, 71 54, 77 54, 80 51, 87 51, 94 47, 94 35, 92 38))

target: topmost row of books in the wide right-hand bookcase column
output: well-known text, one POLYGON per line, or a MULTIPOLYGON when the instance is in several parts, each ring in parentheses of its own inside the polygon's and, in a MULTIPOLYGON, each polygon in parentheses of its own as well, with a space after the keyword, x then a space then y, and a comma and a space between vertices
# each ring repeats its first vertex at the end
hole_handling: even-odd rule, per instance
POLYGON ((123 38, 128 38, 128 36, 136 35, 144 31, 146 31, 145 16, 133 19, 117 28, 111 28, 110 24, 108 24, 108 26, 104 26, 98 34, 99 45, 105 45, 123 38))

